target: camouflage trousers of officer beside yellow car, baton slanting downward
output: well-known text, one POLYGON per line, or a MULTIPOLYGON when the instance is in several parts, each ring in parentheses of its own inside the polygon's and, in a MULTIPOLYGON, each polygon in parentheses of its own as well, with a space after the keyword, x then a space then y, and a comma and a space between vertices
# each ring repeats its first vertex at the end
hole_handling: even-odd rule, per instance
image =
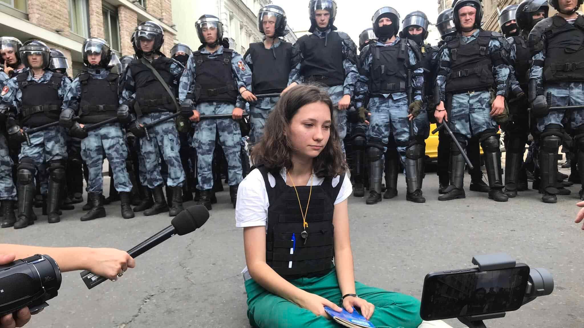
POLYGON ((499 130, 499 124, 491 117, 491 93, 456 93, 452 96, 452 109, 448 114, 450 129, 454 134, 470 139, 488 129, 499 130))

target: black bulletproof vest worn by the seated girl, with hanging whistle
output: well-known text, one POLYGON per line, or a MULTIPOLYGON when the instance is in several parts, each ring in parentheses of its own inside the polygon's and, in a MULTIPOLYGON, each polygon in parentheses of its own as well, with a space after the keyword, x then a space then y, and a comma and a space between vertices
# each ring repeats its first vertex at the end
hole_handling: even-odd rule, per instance
MULTIPOLYGON (((306 215, 308 238, 304 243, 300 236, 304 230, 303 219, 294 187, 286 185, 280 169, 268 170, 263 165, 258 166, 258 169, 262 173, 270 202, 267 209, 266 263, 288 280, 327 274, 333 267, 335 254, 335 227, 332 224, 334 203, 345 175, 340 176, 339 183, 334 188, 330 177, 325 178, 320 186, 312 186, 306 215), (274 187, 270 185, 268 172, 276 179, 274 187), (296 249, 294 254, 290 254, 290 249, 294 246, 293 233, 296 237, 296 249)), ((304 211, 310 186, 296 186, 296 189, 304 211)))

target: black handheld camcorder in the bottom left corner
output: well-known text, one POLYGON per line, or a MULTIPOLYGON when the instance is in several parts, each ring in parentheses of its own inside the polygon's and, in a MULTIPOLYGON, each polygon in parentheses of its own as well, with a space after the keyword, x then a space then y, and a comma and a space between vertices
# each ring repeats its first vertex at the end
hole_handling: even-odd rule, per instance
POLYGON ((46 308, 61 287, 61 270, 48 255, 36 254, 0 266, 0 316, 28 306, 31 313, 46 308))

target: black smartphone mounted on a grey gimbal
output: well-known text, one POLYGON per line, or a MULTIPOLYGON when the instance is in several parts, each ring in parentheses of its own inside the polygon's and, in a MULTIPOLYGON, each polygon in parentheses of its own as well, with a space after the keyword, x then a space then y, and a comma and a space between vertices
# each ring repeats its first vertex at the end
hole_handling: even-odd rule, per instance
POLYGON ((470 328, 484 328, 483 320, 504 317, 554 290, 548 270, 516 263, 505 253, 475 256, 472 264, 478 268, 426 275, 420 305, 423 320, 458 318, 470 328))

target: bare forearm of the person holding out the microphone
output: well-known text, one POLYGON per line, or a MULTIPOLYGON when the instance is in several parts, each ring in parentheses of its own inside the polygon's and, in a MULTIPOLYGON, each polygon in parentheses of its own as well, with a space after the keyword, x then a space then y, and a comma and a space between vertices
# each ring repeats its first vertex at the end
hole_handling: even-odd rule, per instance
POLYGON ((46 254, 57 262, 62 272, 87 270, 93 250, 89 247, 37 247, 0 244, 0 253, 15 254, 16 259, 26 259, 34 254, 46 254))

